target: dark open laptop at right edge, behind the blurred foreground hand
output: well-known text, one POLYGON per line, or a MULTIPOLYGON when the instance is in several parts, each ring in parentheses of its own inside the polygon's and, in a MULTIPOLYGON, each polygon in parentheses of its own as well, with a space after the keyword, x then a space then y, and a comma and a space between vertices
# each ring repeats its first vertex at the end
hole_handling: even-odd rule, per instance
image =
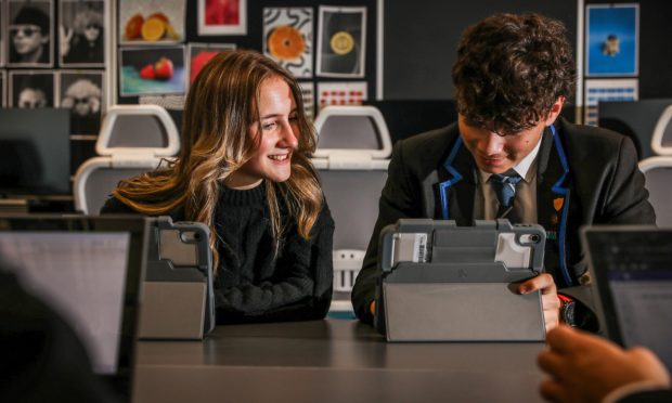
POLYGON ((586 226, 581 237, 607 336, 672 369, 672 229, 586 226))

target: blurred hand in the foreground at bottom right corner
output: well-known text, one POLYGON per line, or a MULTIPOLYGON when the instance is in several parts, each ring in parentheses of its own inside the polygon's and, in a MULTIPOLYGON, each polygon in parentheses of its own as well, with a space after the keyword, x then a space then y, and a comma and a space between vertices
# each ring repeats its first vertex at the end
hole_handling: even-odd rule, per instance
POLYGON ((619 387, 647 381, 670 387, 670 375, 649 350, 623 350, 597 336, 559 326, 546 335, 548 349, 538 358, 551 378, 542 381, 542 396, 553 402, 600 402, 619 387))

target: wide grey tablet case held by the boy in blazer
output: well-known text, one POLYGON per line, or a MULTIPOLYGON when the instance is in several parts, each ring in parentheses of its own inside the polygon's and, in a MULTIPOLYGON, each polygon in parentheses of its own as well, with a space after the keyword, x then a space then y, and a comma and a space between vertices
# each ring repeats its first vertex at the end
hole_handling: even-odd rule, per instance
POLYGON ((539 341, 545 231, 508 220, 402 219, 380 234, 376 328, 388 341, 539 341))

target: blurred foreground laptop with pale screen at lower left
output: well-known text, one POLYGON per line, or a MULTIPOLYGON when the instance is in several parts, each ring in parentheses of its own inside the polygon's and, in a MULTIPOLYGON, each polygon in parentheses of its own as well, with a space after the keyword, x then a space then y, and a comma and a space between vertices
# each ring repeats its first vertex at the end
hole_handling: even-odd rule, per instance
POLYGON ((146 221, 0 216, 0 256, 79 336, 92 369, 130 398, 146 221))

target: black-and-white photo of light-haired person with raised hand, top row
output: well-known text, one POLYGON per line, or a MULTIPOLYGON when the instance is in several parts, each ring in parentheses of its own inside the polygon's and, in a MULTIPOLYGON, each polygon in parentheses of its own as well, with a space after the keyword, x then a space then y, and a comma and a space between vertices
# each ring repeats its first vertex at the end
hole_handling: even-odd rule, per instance
POLYGON ((105 2, 61 0, 59 56, 62 66, 105 65, 105 2))

